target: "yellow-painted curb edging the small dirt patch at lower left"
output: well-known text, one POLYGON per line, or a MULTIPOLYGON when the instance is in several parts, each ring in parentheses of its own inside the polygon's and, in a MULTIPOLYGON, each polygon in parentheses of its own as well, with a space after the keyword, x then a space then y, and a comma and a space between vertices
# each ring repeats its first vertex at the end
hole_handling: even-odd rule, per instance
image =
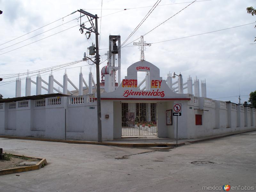
MULTIPOLYGON (((23 157, 22 155, 16 155, 16 154, 12 154, 12 155, 23 157)), ((25 156, 25 157, 30 157, 30 156, 25 156)), ((41 158, 37 158, 37 157, 30 157, 30 158, 41 159, 41 158)), ((12 173, 20 173, 20 172, 25 172, 25 171, 38 170, 38 169, 42 168, 43 164, 44 165, 47 164, 46 159, 41 159, 41 161, 39 161, 36 165, 29 165, 29 166, 24 166, 24 167, 0 170, 0 175, 7 175, 7 174, 12 174, 12 173)))

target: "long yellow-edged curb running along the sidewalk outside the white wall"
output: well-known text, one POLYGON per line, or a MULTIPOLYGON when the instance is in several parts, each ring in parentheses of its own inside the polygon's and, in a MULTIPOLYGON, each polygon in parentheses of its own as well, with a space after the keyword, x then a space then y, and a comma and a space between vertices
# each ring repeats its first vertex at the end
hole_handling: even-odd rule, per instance
POLYGON ((45 139, 45 138, 32 138, 32 137, 18 137, 18 136, 9 136, 9 135, 0 135, 2 138, 9 138, 9 139, 22 139, 22 140, 37 140, 37 141, 48 141, 48 142, 62 142, 62 143, 70 143, 70 144, 91 144, 91 145, 107 145, 107 146, 117 146, 117 147, 179 147, 182 145, 185 145, 185 142, 189 143, 198 143, 203 142, 207 140, 214 140, 214 139, 220 139, 223 137, 228 137, 232 135, 237 135, 241 133, 246 132, 253 132, 256 131, 256 129, 248 130, 248 131, 242 131, 242 132, 234 132, 226 135, 220 135, 220 136, 213 136, 210 138, 205 139, 199 139, 194 141, 184 141, 181 143, 113 143, 113 142, 97 142, 97 141, 76 141, 76 140, 62 140, 62 139, 45 139))

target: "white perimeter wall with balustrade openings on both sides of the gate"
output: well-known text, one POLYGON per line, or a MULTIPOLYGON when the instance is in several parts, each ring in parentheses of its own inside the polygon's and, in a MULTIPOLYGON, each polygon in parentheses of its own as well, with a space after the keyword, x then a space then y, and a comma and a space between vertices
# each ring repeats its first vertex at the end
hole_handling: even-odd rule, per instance
MULTIPOLYGON (((157 134, 176 138, 176 117, 166 125, 166 110, 181 103, 178 138, 198 138, 256 128, 255 108, 188 94, 189 101, 157 101, 157 134), (196 125, 195 115, 202 115, 196 125)), ((141 102, 141 101, 140 101, 141 102)), ((134 103, 135 105, 135 103, 134 103)), ((90 96, 55 97, 0 103, 0 134, 44 138, 97 140, 97 102, 90 96)), ((122 105, 120 101, 101 100, 102 139, 121 138, 122 105)))

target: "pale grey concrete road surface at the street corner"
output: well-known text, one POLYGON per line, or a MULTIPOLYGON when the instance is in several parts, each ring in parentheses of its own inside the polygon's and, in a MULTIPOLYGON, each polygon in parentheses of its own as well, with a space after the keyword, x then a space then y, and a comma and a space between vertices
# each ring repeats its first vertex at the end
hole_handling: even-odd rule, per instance
POLYGON ((20 176, 0 176, 1 192, 201 192, 224 191, 223 185, 256 190, 256 132, 158 151, 6 138, 0 147, 49 163, 20 176))

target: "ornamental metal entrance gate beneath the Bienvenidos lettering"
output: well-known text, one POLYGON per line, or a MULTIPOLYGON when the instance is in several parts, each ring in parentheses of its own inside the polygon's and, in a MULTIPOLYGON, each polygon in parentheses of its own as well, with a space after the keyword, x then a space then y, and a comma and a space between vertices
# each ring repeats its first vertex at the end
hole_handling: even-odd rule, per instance
POLYGON ((156 103, 122 103, 122 136, 157 135, 156 103))

